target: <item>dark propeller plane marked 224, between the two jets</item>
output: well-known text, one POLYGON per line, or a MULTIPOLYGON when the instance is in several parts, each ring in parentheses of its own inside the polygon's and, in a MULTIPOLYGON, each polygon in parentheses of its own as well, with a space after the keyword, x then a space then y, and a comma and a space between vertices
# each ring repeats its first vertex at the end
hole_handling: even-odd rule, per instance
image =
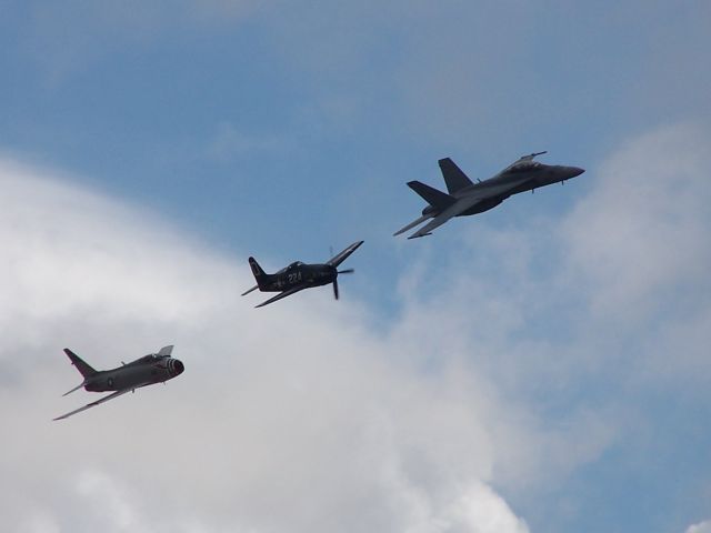
POLYGON ((338 274, 353 273, 353 269, 338 270, 338 265, 346 261, 362 243, 363 241, 354 242, 326 263, 306 264, 301 261, 296 261, 274 274, 266 273, 254 258, 249 258, 249 265, 252 269, 257 284, 244 291, 242 295, 244 296, 257 289, 262 292, 279 292, 279 294, 266 302, 254 305, 256 308, 261 308, 303 289, 333 283, 333 296, 338 300, 338 274))

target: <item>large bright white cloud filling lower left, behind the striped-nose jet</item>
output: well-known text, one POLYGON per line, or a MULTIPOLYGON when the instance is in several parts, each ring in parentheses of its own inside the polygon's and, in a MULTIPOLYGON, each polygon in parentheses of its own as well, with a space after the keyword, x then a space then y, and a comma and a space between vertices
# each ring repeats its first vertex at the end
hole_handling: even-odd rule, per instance
POLYGON ((460 358, 424 372, 327 291, 254 310, 241 260, 47 170, 0 183, 9 529, 525 531, 489 487, 515 409, 460 358), (94 398, 60 396, 61 348, 108 368, 172 342, 179 379, 50 422, 94 398))

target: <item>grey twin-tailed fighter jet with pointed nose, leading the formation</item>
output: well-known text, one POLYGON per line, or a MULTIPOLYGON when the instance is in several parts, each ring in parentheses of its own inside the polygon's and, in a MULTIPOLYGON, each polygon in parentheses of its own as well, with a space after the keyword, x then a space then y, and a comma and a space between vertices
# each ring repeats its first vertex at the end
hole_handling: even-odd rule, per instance
POLYGON ((543 164, 533 161, 533 158, 543 153, 548 152, 523 155, 492 178, 484 181, 478 180, 477 183, 473 183, 454 161, 449 158, 440 159, 439 165, 449 194, 419 181, 408 182, 408 187, 422 197, 429 205, 422 210, 422 217, 397 231, 394 235, 404 233, 425 220, 432 219, 408 239, 430 235, 432 230, 452 217, 483 213, 495 208, 512 194, 533 191, 551 183, 563 183, 565 180, 584 172, 579 167, 543 164))

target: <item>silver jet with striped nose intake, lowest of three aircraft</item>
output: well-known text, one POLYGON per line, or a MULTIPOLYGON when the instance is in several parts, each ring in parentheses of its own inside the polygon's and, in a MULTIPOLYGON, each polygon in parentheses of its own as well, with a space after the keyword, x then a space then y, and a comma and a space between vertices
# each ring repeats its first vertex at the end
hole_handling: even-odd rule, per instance
POLYGON ((91 402, 83 408, 71 411, 70 413, 57 416, 54 420, 66 419, 72 414, 77 414, 89 408, 99 405, 100 403, 113 400, 129 391, 136 392, 136 389, 140 386, 152 385, 153 383, 161 382, 164 383, 166 381, 172 380, 177 375, 182 374, 186 368, 179 360, 170 356, 172 351, 173 346, 163 346, 158 353, 143 355, 130 363, 123 363, 122 366, 119 366, 118 369, 97 371, 79 355, 66 348, 64 353, 69 356, 71 364, 77 366, 77 370, 84 378, 84 381, 71 391, 64 393, 64 396, 70 392, 78 391, 82 386, 84 390, 91 392, 116 392, 108 396, 103 396, 101 400, 91 402))

